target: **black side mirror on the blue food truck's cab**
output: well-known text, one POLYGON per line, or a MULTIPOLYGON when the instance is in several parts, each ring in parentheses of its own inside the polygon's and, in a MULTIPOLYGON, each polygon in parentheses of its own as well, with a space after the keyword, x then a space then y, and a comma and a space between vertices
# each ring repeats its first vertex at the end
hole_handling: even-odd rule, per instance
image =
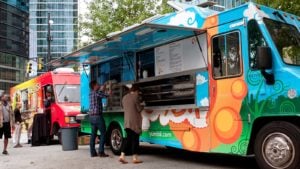
POLYGON ((265 46, 257 47, 257 68, 260 70, 272 69, 271 48, 265 46))

